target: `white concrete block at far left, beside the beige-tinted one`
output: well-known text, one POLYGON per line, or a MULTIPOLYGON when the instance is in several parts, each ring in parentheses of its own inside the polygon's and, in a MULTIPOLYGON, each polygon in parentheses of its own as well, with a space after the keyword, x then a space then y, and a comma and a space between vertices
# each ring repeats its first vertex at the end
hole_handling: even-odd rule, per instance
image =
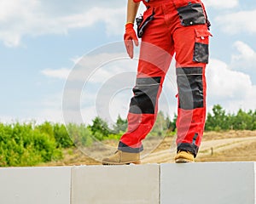
POLYGON ((71 167, 0 168, 1 204, 70 204, 71 167))

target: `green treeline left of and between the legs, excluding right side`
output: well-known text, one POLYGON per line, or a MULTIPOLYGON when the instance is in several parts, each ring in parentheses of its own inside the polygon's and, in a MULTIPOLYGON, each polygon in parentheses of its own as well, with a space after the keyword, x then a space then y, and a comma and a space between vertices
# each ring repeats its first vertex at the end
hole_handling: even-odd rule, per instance
MULTIPOLYGON (((160 112, 150 135, 161 135, 169 125, 170 120, 160 112)), ((112 127, 100 117, 87 126, 52 122, 39 125, 36 122, 0 123, 0 167, 35 166, 58 161, 63 158, 63 149, 90 146, 96 140, 119 139, 126 128, 127 120, 120 116, 112 127)))

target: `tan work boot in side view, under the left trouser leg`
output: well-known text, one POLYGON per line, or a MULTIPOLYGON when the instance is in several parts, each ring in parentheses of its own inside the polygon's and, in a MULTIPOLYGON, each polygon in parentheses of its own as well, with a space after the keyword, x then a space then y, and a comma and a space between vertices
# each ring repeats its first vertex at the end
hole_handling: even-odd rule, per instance
POLYGON ((109 156, 102 160, 103 165, 121 165, 130 163, 140 164, 140 153, 130 153, 117 150, 113 156, 109 156))

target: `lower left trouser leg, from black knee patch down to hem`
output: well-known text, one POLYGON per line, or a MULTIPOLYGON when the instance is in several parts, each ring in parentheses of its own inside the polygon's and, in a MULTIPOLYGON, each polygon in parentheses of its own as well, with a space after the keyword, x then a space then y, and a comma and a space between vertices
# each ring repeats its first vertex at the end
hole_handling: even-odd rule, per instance
POLYGON ((137 78, 127 116, 128 130, 120 139, 119 150, 128 152, 143 150, 141 141, 154 125, 161 84, 161 77, 137 78))

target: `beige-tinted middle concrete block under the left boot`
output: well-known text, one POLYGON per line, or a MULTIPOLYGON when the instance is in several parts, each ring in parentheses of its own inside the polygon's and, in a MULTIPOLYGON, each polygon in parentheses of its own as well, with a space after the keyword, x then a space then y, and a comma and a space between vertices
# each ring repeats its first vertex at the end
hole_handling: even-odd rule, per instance
POLYGON ((159 165, 85 166, 72 170, 72 204, 157 204, 159 165))

